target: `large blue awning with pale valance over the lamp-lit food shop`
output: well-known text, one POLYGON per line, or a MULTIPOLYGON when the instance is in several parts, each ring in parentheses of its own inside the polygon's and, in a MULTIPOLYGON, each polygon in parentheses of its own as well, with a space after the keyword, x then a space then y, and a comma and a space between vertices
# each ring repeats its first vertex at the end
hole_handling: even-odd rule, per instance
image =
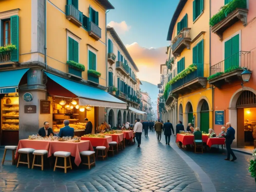
POLYGON ((79 98, 79 105, 90 105, 97 107, 109 107, 126 109, 126 102, 115 98, 111 94, 99 88, 91 87, 82 83, 71 81, 51 73, 45 72, 45 74, 58 83, 60 86, 69 90, 79 98))

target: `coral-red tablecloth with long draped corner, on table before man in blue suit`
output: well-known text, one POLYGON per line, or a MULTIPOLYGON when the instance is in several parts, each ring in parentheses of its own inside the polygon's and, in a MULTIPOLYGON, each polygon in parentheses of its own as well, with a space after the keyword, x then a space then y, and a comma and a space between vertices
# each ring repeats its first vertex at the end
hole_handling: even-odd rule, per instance
POLYGON ((70 152, 71 156, 75 157, 75 164, 79 166, 81 163, 80 152, 93 151, 93 148, 90 141, 80 141, 78 143, 68 141, 51 141, 48 157, 50 157, 56 151, 70 152))

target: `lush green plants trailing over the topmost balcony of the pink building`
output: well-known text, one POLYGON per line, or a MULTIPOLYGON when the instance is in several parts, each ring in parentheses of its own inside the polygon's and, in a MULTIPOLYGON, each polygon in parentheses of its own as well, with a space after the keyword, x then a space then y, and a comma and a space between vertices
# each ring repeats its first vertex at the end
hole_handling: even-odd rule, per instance
POLYGON ((209 25, 212 27, 217 23, 221 22, 228 16, 228 14, 232 13, 237 8, 246 9, 247 0, 233 0, 228 4, 224 5, 220 8, 220 11, 218 13, 210 18, 209 25))

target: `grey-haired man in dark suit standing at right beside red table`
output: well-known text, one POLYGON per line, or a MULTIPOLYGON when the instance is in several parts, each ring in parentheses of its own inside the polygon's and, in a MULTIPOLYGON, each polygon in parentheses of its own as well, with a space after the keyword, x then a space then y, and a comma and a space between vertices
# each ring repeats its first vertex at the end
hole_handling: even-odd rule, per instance
POLYGON ((231 161, 235 161, 237 159, 237 157, 235 156, 235 154, 233 153, 232 149, 231 149, 231 144, 233 142, 233 140, 235 139, 235 130, 233 127, 231 127, 231 123, 227 123, 226 126, 228 127, 227 129, 227 133, 225 135, 225 143, 226 143, 226 149, 228 151, 228 158, 226 158, 225 160, 229 161, 230 160, 230 154, 232 155, 233 159, 231 161))

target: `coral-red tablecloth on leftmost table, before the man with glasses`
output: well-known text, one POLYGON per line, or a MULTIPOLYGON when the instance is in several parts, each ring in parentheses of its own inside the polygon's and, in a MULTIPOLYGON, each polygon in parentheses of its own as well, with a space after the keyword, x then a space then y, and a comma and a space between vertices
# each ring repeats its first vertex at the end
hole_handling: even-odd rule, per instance
POLYGON ((17 153, 15 153, 15 159, 19 157, 18 150, 22 148, 33 148, 35 150, 47 150, 49 151, 50 141, 44 140, 29 140, 29 139, 22 139, 19 140, 19 144, 17 147, 17 153))

